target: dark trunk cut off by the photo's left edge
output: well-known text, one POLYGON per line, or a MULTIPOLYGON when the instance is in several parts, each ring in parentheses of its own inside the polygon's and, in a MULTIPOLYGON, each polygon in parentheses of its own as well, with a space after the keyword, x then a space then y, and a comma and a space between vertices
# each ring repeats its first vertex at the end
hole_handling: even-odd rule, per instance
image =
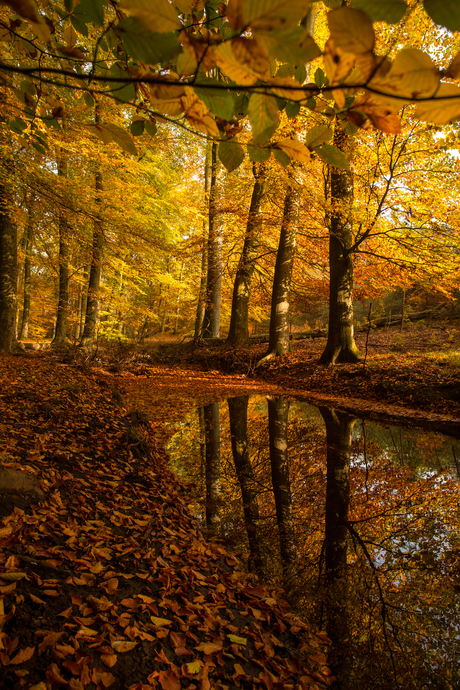
POLYGON ((0 352, 21 349, 16 338, 18 236, 10 218, 11 203, 5 184, 0 186, 0 352))

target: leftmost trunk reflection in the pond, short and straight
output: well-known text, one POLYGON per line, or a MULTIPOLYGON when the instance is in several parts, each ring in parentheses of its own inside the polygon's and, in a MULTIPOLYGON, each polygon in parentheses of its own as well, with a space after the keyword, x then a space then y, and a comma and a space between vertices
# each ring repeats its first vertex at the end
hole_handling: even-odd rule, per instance
POLYGON ((220 421, 219 403, 204 406, 206 438, 206 527, 220 536, 220 421))

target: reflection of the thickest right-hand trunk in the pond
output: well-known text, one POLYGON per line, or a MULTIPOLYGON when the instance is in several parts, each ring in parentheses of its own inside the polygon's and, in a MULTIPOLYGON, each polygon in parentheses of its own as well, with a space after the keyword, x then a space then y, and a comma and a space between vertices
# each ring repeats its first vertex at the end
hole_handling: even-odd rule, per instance
POLYGON ((350 454, 355 417, 320 407, 326 425, 327 483, 325 532, 325 587, 327 632, 333 642, 330 656, 334 672, 346 677, 348 642, 348 510, 350 454))

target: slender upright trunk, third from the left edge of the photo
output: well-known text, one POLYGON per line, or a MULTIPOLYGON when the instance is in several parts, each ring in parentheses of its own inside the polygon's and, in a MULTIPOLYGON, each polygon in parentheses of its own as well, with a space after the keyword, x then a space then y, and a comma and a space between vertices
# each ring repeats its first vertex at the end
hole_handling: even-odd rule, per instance
MULTIPOLYGON (((60 150, 58 177, 67 179, 67 157, 60 150)), ((61 180, 61 183, 62 183, 61 180)), ((59 209, 59 296, 56 316, 56 328, 52 345, 67 344, 67 314, 69 310, 69 229, 64 209, 59 209)))

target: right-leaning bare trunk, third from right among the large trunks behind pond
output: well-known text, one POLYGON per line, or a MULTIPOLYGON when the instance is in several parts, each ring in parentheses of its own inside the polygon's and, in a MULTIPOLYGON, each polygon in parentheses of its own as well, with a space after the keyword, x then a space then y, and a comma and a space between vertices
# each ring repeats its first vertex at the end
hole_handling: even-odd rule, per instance
POLYGON ((241 252, 233 286, 232 314, 227 343, 232 347, 244 347, 249 342, 248 308, 251 280, 259 253, 259 235, 262 229, 261 201, 264 191, 265 166, 252 170, 255 177, 251 206, 246 225, 243 251, 241 252))

